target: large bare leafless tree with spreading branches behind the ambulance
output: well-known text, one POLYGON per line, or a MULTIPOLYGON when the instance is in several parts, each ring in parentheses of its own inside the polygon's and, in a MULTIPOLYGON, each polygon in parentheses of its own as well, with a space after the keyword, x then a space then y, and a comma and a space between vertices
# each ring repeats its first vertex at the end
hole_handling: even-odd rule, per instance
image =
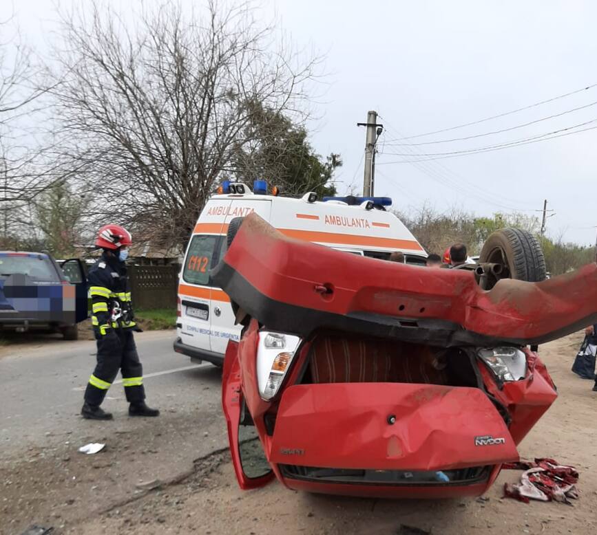
POLYGON ((87 13, 63 17, 56 53, 64 154, 104 220, 185 243, 218 179, 238 171, 253 103, 304 118, 317 58, 276 44, 248 4, 185 16, 167 2, 134 26, 97 2, 87 13))

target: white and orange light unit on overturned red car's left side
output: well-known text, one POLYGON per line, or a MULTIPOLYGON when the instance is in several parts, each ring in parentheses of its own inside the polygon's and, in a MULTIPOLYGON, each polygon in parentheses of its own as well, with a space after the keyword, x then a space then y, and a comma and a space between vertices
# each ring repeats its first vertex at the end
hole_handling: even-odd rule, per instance
POLYGON ((299 344, 298 336, 260 332, 257 348, 257 381, 259 393, 264 400, 269 401, 277 394, 299 344))

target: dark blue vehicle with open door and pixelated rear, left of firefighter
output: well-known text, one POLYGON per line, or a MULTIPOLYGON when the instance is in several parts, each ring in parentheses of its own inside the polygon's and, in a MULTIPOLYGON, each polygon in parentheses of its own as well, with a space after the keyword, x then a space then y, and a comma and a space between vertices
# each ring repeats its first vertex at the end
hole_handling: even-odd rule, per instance
POLYGON ((76 340, 85 320, 87 276, 81 260, 47 253, 0 251, 0 332, 44 330, 76 340))

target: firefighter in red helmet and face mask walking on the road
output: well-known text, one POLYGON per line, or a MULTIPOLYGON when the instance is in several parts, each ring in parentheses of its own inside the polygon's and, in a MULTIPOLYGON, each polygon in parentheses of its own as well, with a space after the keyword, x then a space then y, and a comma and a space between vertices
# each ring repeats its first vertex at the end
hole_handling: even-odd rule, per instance
POLYGON ((95 245, 103 249, 103 254, 88 276, 97 364, 85 389, 85 403, 81 409, 81 415, 87 419, 112 419, 112 414, 103 411, 100 405, 118 370, 122 373, 130 404, 129 415, 160 414, 145 404, 143 367, 133 338, 133 331, 140 329, 134 322, 125 267, 131 243, 131 234, 121 226, 105 225, 98 230, 95 245))

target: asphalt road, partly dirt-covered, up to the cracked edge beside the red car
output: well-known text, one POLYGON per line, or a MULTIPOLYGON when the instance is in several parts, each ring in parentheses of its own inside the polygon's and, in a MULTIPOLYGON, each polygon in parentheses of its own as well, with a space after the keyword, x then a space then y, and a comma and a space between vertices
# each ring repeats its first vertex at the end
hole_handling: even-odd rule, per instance
POLYGON ((160 416, 129 417, 117 381, 103 404, 109 422, 80 415, 94 341, 39 337, 0 347, 0 533, 6 522, 20 533, 34 522, 87 518, 126 503, 139 483, 176 480, 227 447, 220 369, 174 353, 173 339, 174 331, 136 335, 147 404, 160 416), (105 450, 77 451, 90 442, 105 450))

